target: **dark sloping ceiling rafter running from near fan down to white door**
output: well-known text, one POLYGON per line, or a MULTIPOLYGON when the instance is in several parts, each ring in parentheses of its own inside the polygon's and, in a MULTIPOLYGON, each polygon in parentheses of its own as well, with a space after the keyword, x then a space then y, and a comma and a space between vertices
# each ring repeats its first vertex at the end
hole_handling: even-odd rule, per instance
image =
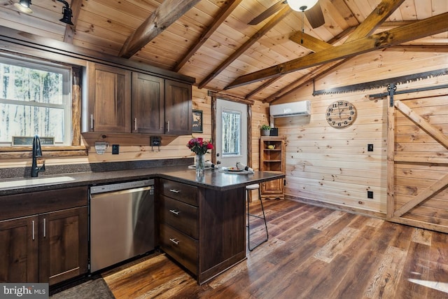
POLYGON ((218 74, 221 73, 226 67, 228 67, 232 62, 234 62, 241 54, 246 52, 248 48, 251 48, 253 43, 258 41, 262 36, 264 36, 272 27, 277 25, 284 16, 288 15, 288 13, 291 12, 291 9, 288 5, 285 6, 279 13, 274 15, 274 17, 269 20, 269 22, 266 23, 265 26, 263 26, 257 33, 255 33, 253 36, 251 36, 246 43, 244 43, 241 47, 238 48, 232 55, 228 57, 224 62, 222 62, 214 71, 212 71, 202 82, 198 85, 199 88, 203 88, 207 83, 209 83, 213 78, 218 76, 218 74))

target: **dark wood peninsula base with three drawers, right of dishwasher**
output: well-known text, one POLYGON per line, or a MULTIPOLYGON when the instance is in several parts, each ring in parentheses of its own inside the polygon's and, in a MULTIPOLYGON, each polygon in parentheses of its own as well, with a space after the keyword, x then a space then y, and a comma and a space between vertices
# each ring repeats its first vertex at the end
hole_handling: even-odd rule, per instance
POLYGON ((199 284, 246 258, 244 187, 214 190, 162 179, 160 189, 160 246, 199 284))

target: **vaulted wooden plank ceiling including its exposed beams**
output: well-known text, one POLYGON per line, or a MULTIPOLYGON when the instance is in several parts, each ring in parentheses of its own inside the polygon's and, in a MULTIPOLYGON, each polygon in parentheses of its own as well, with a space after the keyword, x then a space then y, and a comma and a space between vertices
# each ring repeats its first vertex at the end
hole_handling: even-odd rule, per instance
MULTIPOLYGON (((32 1, 31 15, 0 0, 0 25, 196 78, 200 88, 274 102, 349 57, 388 46, 446 51, 447 0, 319 0, 325 24, 311 28, 279 0, 32 1), (430 26, 428 26, 430 24, 430 26), (141 48, 143 46, 143 48, 141 48)), ((418 66, 416 66, 418 68, 418 66)))

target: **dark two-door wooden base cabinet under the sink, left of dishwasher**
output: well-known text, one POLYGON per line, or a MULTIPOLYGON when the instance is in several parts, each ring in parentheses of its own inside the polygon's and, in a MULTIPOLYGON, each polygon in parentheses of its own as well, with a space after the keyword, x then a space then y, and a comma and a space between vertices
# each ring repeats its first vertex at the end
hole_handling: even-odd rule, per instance
POLYGON ((0 282, 52 285, 87 273, 87 187, 3 196, 0 206, 0 282))

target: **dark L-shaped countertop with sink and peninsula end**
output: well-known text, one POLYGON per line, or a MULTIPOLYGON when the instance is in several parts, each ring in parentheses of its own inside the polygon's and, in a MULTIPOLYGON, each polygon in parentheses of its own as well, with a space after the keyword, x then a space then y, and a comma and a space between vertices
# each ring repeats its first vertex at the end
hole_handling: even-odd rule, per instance
POLYGON ((285 175, 274 172, 227 173, 218 169, 206 169, 204 176, 197 177, 195 169, 186 165, 149 167, 141 169, 117 170, 107 172, 78 172, 71 174, 40 175, 29 179, 2 179, 0 180, 0 195, 18 193, 32 193, 43 190, 70 188, 76 186, 92 186, 104 183, 133 181, 139 179, 164 178, 193 186, 211 188, 214 190, 229 190, 239 188, 251 183, 261 183, 272 179, 281 179, 285 175), (52 179, 55 179, 53 181, 52 179), (23 186, 17 186, 17 181, 24 181, 23 186), (59 181, 57 181, 59 180, 59 181))

